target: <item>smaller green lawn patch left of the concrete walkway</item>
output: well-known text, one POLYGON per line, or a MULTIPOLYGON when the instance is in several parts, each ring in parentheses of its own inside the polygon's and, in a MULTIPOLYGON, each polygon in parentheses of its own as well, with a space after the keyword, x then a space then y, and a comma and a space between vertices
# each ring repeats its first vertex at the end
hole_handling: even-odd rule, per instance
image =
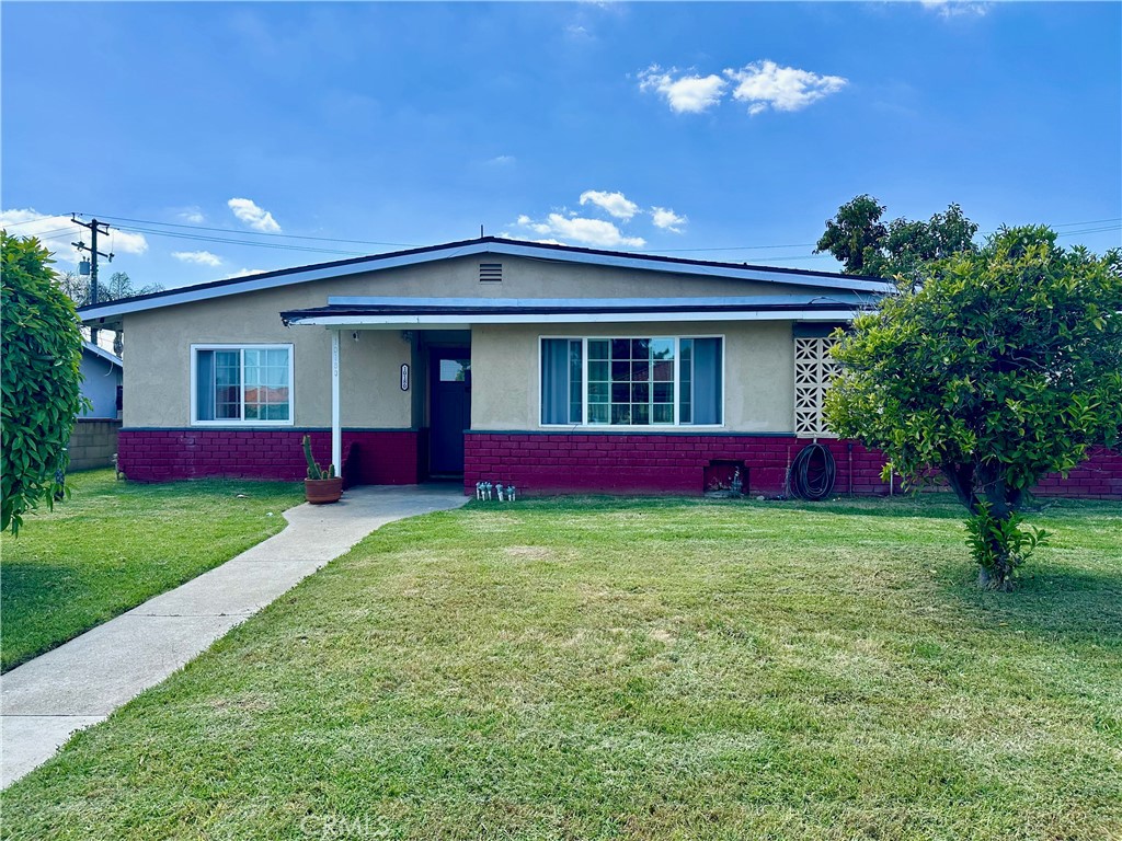
POLYGON ((66 481, 70 499, 0 536, 3 671, 276 534, 303 499, 292 482, 136 484, 111 470, 66 481))

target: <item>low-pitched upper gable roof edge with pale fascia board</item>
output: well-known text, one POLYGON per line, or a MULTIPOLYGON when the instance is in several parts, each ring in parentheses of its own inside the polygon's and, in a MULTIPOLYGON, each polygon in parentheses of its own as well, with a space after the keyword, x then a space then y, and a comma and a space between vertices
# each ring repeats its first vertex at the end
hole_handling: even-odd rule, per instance
POLYGON ((481 237, 473 240, 445 242, 440 246, 429 246, 426 248, 414 248, 405 251, 371 255, 369 257, 319 262, 291 269, 263 271, 246 277, 184 286, 176 289, 165 289, 148 295, 137 295, 131 298, 111 301, 104 304, 91 304, 80 307, 79 313, 83 321, 89 322, 95 318, 110 318, 126 313, 188 304, 228 295, 240 295, 247 292, 258 292, 402 266, 415 266, 458 257, 470 257, 472 255, 505 255, 557 262, 613 266, 637 271, 720 277, 734 280, 811 286, 844 292, 886 294, 894 289, 892 284, 886 283, 882 278, 863 275, 843 275, 831 271, 774 268, 771 266, 749 266, 748 264, 739 262, 716 262, 657 255, 636 255, 625 251, 605 251, 573 246, 508 240, 498 237, 481 237))

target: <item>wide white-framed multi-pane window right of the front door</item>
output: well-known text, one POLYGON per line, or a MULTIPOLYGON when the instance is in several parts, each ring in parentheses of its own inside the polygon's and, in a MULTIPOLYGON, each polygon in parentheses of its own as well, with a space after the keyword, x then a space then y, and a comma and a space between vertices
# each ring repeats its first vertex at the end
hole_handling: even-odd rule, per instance
POLYGON ((723 423, 719 336, 542 339, 543 426, 723 423))

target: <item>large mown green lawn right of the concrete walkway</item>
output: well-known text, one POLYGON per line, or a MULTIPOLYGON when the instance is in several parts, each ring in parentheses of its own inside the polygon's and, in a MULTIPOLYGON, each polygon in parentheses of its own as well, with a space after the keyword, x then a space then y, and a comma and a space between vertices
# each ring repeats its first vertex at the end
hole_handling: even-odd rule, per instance
POLYGON ((1033 520, 1012 595, 935 498, 394 524, 15 784, 3 834, 1119 838, 1122 507, 1033 520))

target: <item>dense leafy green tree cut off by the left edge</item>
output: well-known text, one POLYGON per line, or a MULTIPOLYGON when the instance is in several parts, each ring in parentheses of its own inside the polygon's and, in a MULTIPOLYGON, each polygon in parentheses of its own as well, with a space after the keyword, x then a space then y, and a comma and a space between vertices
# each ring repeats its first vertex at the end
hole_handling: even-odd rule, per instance
POLYGON ((54 505, 66 444, 82 397, 82 333, 74 302, 57 286, 50 255, 34 238, 0 231, 3 359, 0 530, 18 533, 22 515, 54 505))

